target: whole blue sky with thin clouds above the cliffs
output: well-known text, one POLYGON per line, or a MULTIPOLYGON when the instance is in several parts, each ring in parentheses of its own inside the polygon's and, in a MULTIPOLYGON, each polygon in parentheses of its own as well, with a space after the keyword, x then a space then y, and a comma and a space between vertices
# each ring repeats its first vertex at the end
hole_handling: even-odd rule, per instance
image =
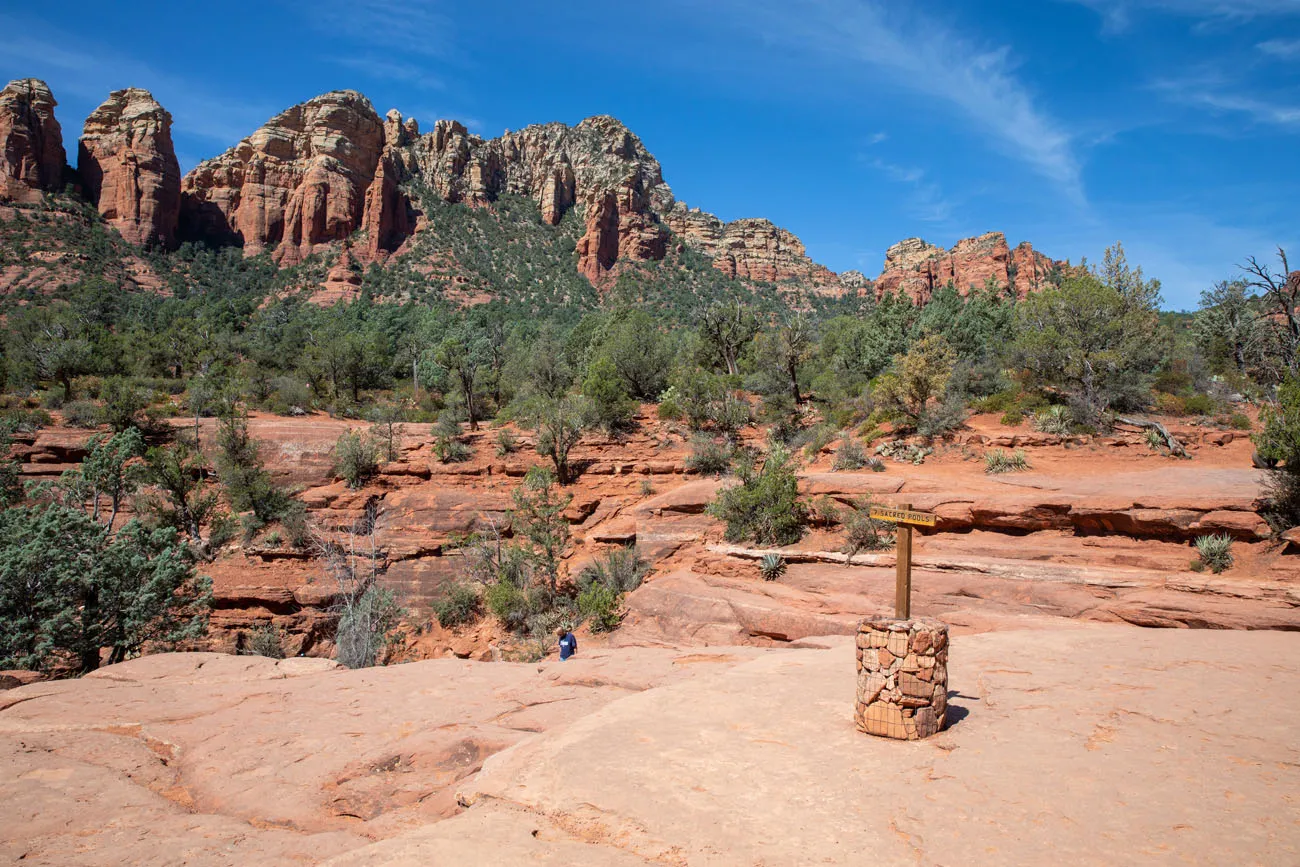
POLYGON ((679 199, 835 270, 911 235, 1123 240, 1182 309, 1248 255, 1300 260, 1300 0, 23 6, 0 77, 49 83, 70 153, 118 87, 172 112, 182 169, 351 87, 484 135, 614 114, 679 199))

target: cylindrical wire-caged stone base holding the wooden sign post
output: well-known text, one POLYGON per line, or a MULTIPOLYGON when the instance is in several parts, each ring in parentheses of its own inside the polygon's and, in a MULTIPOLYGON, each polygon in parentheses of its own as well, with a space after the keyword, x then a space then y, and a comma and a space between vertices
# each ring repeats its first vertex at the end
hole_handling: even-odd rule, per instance
POLYGON ((854 723, 867 734, 915 741, 944 728, 948 624, 867 617, 858 624, 854 723))

